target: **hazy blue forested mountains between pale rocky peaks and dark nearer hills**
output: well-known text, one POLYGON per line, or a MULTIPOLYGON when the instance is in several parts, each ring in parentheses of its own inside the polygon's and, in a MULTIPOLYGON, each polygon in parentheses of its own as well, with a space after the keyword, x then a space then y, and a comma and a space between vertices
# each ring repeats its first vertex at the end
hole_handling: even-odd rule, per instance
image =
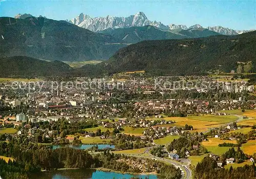
POLYGON ((120 48, 143 40, 182 39, 220 35, 196 29, 162 30, 156 26, 106 29, 92 32, 65 20, 34 17, 0 17, 0 56, 29 56, 60 61, 108 59, 120 48))

